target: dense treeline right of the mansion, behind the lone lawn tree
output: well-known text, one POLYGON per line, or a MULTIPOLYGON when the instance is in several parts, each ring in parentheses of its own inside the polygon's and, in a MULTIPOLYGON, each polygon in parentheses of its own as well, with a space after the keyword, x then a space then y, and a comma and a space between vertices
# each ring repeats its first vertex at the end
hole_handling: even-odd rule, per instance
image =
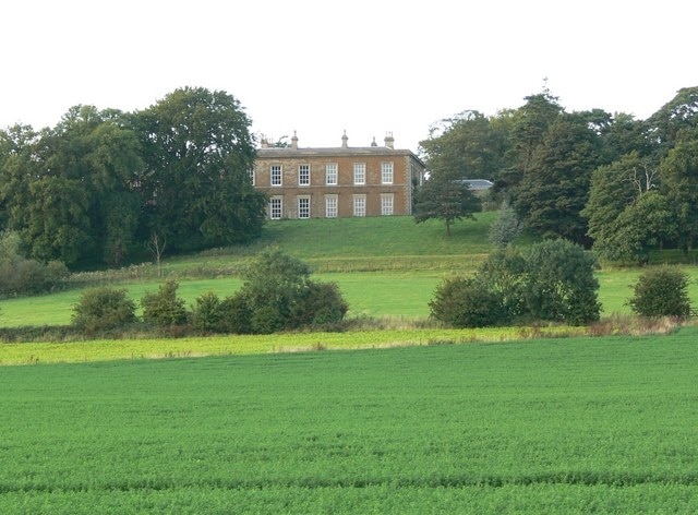
POLYGON ((494 182, 545 238, 593 247, 611 261, 647 262, 654 248, 698 238, 698 87, 647 120, 602 109, 567 112, 547 89, 518 109, 442 120, 421 142, 431 179, 494 182))

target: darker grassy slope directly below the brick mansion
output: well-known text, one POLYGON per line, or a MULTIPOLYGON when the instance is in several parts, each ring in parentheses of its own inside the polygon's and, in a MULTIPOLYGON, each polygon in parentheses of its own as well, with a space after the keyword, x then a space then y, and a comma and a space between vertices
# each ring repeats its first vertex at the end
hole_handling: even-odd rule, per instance
POLYGON ((488 230, 496 216, 488 212, 476 220, 458 221, 450 237, 443 221, 416 224, 409 216, 270 221, 251 245, 173 258, 167 260, 165 272, 226 270, 267 247, 282 249, 316 272, 472 267, 492 251, 488 230))

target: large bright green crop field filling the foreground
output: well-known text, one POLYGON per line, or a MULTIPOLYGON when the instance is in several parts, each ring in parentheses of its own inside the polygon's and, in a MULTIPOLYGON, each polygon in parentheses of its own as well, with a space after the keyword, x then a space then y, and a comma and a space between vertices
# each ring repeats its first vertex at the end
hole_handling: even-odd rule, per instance
POLYGON ((0 369, 0 513, 697 513, 698 328, 0 369))

